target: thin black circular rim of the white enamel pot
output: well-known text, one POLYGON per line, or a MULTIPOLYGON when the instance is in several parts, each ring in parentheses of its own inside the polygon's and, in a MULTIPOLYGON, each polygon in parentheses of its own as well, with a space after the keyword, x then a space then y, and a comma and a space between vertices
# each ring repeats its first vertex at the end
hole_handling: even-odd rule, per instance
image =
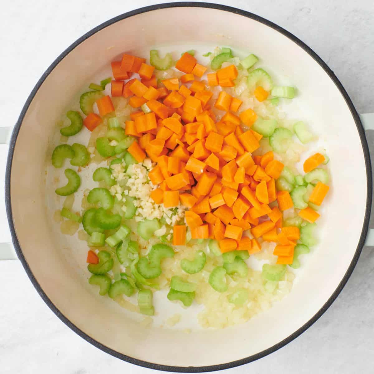
POLYGON ((304 332, 307 328, 309 328, 314 322, 317 321, 318 318, 322 316, 322 314, 329 308, 329 306, 332 304, 332 302, 335 300, 335 298, 340 294, 341 290, 343 289, 344 285, 347 283, 350 275, 353 272, 353 269, 356 266, 356 263, 358 261, 359 255, 361 254, 362 248, 364 246, 365 238, 367 236, 368 232, 368 226, 369 226, 369 217, 370 217, 370 210, 371 210, 371 199, 372 199, 372 173, 371 173, 371 163, 370 163, 370 154, 368 149, 367 140, 365 137, 365 131, 361 124, 359 115, 349 98, 349 95, 341 85, 338 78, 335 76, 335 74, 331 71, 331 69, 325 64, 324 61, 312 50, 310 47, 308 47, 305 43, 301 42, 300 39, 295 37, 293 34, 289 33, 288 31, 284 30, 282 27, 274 24, 273 22, 268 21, 267 19, 264 19, 260 16, 257 16, 253 13, 246 12, 245 10, 237 9, 230 6, 220 5, 220 4, 214 4, 214 3, 197 3, 197 2, 178 2, 178 3, 164 3, 164 4, 156 4, 151 5, 147 7, 143 7, 140 9, 132 10, 130 12, 124 13, 120 16, 117 16, 115 18, 110 19, 109 21, 106 21, 102 23, 101 25, 93 28, 91 31, 80 37, 76 42, 74 42, 71 46, 69 46, 64 52, 61 53, 61 55, 58 56, 58 58, 53 61, 53 63, 47 68, 45 73, 42 75, 42 77, 39 79, 37 84, 35 85, 33 91, 31 91, 30 95, 27 98, 27 101, 25 102, 24 107, 22 108, 21 114, 19 115, 18 121, 15 125, 15 128, 13 129, 12 138, 10 140, 9 145, 9 153, 7 157, 7 165, 6 165, 6 177, 5 177, 5 202, 6 202, 6 212, 7 212, 7 219, 9 222, 10 232, 12 234, 12 241, 13 245, 15 247, 16 253, 18 255, 19 260, 21 261, 28 277, 30 278, 31 282, 33 283, 34 287, 36 288, 37 292, 39 293, 40 297, 45 301, 47 306, 58 316, 59 319, 61 319, 62 322, 64 322, 69 328, 71 328, 74 332, 76 332, 78 335, 80 335, 83 339, 88 341, 89 343, 93 344, 94 346, 98 347, 102 351, 109 353, 110 355, 117 357, 123 361, 130 362, 135 365, 139 365, 142 367, 154 369, 154 370, 163 370, 163 371, 171 371, 171 372, 184 372, 184 373, 201 373, 201 372, 207 372, 207 371, 215 371, 215 370, 224 370, 228 368, 233 368, 239 365, 247 364, 248 362, 255 361, 257 359, 260 359, 266 355, 269 355, 272 352, 275 352, 276 350, 280 349, 281 347, 285 346, 292 340, 294 340, 296 337, 298 337, 302 332, 304 332), (122 353, 119 353, 109 347, 104 346, 99 341, 96 341, 95 339, 91 338, 87 334, 85 334, 82 330, 80 330, 76 325, 74 325, 68 318, 66 318, 62 313, 58 310, 58 308, 52 303, 52 301, 47 297, 45 292, 43 291, 42 287, 39 285, 37 279, 34 277, 33 272, 31 271, 30 267, 28 266, 27 261, 25 260, 25 257, 22 253, 22 249, 19 245, 18 238, 16 235, 15 226, 13 223, 13 215, 12 215, 12 205, 10 201, 10 174, 11 174, 11 168, 12 168, 12 162, 13 162, 13 154, 14 154, 14 148, 17 140, 17 136, 19 133, 19 129, 21 127, 22 121, 24 119, 24 116, 28 110, 28 107, 31 104, 31 101, 33 100, 34 96, 36 95, 36 92, 40 88, 40 86, 43 84, 47 76, 51 73, 51 71, 56 67, 56 65, 69 53, 71 52, 76 46, 78 46, 80 43, 91 37, 93 34, 97 33, 98 31, 102 30, 105 27, 110 26, 111 24, 114 24, 117 21, 120 21, 122 19, 129 18, 131 16, 150 12, 152 10, 157 9, 165 9, 165 8, 174 8, 174 7, 201 7, 201 8, 210 8, 210 9, 217 9, 217 10, 223 10, 226 12, 235 13, 238 15, 245 16, 247 18, 254 19, 255 21, 261 22, 264 25, 267 25, 268 27, 273 28, 274 30, 278 31, 279 33, 283 34, 284 36, 291 39, 294 43, 296 43, 298 46, 300 46, 306 53, 308 53, 322 68, 323 70, 328 74, 330 79, 335 83, 337 88, 339 89, 341 95, 343 95, 347 106, 349 107, 350 112, 352 113, 352 117, 355 120, 357 131, 359 133, 361 144, 362 144, 362 150, 364 152, 364 158, 365 158, 365 165, 367 169, 367 203, 366 203, 366 210, 365 210, 365 219, 364 219, 364 225, 362 227, 361 236, 358 242, 358 246, 355 252, 355 255, 347 269, 347 272, 345 273, 343 279, 339 283, 337 289, 335 289, 334 293, 331 295, 331 297, 328 299, 328 301, 321 307, 321 309, 311 318, 306 324, 304 324, 302 327, 300 327, 297 331, 295 331, 293 334, 289 335, 284 340, 280 341, 279 343, 275 344, 274 346, 263 350, 262 352, 259 352, 255 355, 232 361, 227 362, 225 364, 217 364, 217 365, 209 365, 209 366, 200 366, 200 367, 180 367, 180 366, 168 366, 168 365, 159 365, 154 364, 147 361, 142 361, 139 359, 135 359, 126 355, 123 355, 122 353))

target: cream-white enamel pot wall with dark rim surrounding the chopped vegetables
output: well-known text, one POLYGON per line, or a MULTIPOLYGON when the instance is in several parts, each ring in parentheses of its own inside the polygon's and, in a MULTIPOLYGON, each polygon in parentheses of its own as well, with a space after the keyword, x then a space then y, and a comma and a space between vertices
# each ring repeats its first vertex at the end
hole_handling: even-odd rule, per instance
POLYGON ((312 325, 355 267, 367 236, 371 191, 364 128, 327 65, 281 27, 239 9, 205 3, 135 10, 73 43, 27 99, 13 130, 6 171, 13 245, 46 304, 77 334, 105 352, 168 371, 212 371, 241 365, 279 349, 312 325), (45 179, 56 145, 53 124, 82 88, 97 81, 96 76, 107 75, 109 62, 125 51, 148 55, 154 47, 167 46, 165 50, 196 48, 205 53, 223 45, 255 53, 261 57, 261 67, 281 77, 280 84, 296 86, 298 96, 287 111, 306 120, 321 135, 331 159, 332 186, 319 220, 320 244, 298 273, 291 293, 243 325, 196 329, 190 334, 143 327, 131 313, 109 306, 109 300, 104 302, 92 291, 85 270, 86 246, 76 239, 68 242, 55 227, 50 214, 55 187, 45 179))

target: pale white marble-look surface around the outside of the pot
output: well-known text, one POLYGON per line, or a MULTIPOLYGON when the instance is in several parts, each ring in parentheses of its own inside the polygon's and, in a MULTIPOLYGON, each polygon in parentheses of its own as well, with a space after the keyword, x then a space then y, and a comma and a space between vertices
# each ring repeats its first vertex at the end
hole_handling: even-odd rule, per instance
MULTIPOLYGON (((157 1, 7 1, 0 22, 0 126, 11 126, 49 64, 74 40, 116 15, 157 1), (6 87, 6 90, 4 89, 6 87)), ((217 1, 270 19, 334 70, 360 113, 374 111, 374 5, 370 0, 217 1)), ((0 146, 0 183, 6 147, 0 146)), ((3 200, 0 241, 9 240, 3 200)), ((365 248, 328 311, 304 334, 230 373, 373 373, 374 250, 365 248)), ((0 372, 151 373, 113 358, 67 328, 43 303, 18 261, 0 262, 0 372)))

